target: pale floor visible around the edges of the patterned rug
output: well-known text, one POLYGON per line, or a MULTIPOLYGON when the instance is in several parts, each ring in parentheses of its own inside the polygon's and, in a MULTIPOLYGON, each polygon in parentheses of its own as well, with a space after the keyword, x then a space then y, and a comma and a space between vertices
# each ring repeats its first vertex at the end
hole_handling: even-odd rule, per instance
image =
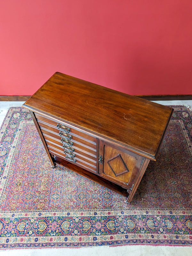
MULTIPOLYGON (((0 125, 10 107, 21 106, 24 102, 0 102, 0 125)), ((192 108, 191 101, 157 101, 162 105, 188 105, 192 108)), ((187 246, 96 246, 85 248, 58 248, 58 249, 16 249, 0 250, 0 256, 189 256, 192 255, 192 247, 187 246)))

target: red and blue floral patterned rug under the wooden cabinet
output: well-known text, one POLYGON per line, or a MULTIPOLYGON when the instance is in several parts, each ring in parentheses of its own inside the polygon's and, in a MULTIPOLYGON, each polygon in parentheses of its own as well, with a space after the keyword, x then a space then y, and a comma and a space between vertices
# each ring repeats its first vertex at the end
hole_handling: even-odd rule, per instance
POLYGON ((52 169, 28 110, 11 108, 0 131, 0 248, 192 245, 192 112, 172 107, 158 159, 130 205, 52 169))

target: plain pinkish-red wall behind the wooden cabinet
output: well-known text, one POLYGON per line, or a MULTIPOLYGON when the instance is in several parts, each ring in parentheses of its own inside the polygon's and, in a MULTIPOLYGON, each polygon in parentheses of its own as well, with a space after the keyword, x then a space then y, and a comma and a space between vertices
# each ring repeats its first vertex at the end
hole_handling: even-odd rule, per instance
POLYGON ((192 94, 191 0, 6 0, 0 95, 56 71, 133 95, 192 94))

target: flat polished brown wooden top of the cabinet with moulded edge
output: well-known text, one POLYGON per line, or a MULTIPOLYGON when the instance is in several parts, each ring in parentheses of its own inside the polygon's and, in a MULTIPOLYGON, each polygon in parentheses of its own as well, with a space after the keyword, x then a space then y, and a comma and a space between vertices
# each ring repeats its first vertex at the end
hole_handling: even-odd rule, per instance
POLYGON ((56 72, 23 105, 156 159, 172 108, 56 72))

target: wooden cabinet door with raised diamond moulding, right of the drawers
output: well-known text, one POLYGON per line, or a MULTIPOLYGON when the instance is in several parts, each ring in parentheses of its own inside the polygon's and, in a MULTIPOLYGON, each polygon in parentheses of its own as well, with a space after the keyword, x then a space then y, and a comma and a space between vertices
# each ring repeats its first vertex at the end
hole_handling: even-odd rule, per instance
POLYGON ((130 192, 144 160, 143 156, 99 140, 99 174, 130 192))

